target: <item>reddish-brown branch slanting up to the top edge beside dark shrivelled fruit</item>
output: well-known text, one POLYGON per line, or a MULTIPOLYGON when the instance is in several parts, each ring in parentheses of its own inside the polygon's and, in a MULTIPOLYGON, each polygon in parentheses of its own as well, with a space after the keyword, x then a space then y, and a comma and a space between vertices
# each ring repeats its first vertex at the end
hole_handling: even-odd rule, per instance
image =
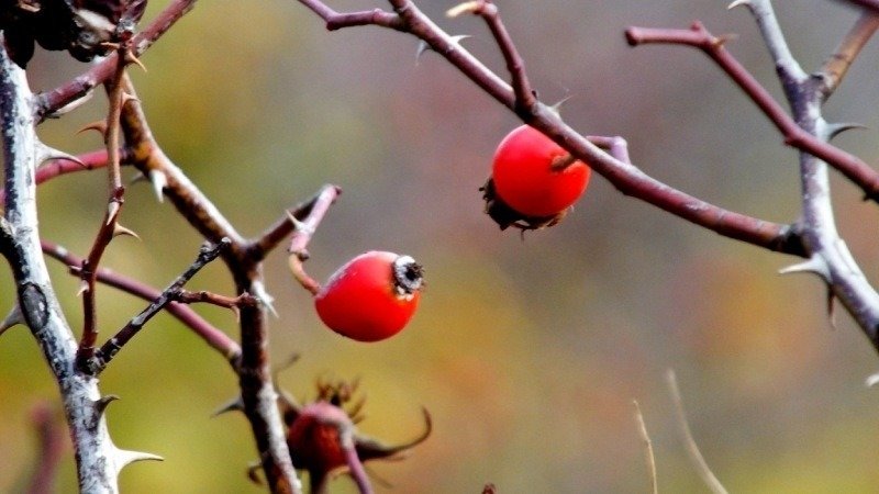
MULTIPOLYGON (((153 43, 162 37, 175 22, 192 10, 197 0, 173 0, 157 16, 131 40, 132 54, 141 56, 153 43)), ((74 80, 37 97, 36 111, 37 122, 42 122, 47 115, 67 105, 71 101, 84 97, 93 90, 98 85, 103 83, 111 77, 116 67, 119 54, 113 53, 103 61, 96 65, 87 72, 76 77, 74 80)))

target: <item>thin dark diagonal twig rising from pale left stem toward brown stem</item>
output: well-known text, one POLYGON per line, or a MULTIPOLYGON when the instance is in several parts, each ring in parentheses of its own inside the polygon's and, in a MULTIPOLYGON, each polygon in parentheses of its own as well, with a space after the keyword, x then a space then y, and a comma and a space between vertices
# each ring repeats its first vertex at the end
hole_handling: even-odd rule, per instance
POLYGON ((198 273, 201 268, 205 267, 209 262, 216 259, 220 256, 220 252, 229 247, 231 240, 223 239, 215 245, 208 245, 201 248, 199 251, 198 257, 192 262, 192 265, 187 268, 179 277, 177 277, 171 284, 166 288, 162 294, 153 301, 143 312, 141 312, 136 317, 131 319, 129 324, 125 325, 119 333, 115 334, 112 338, 110 338, 105 344, 101 346, 101 348, 94 352, 92 359, 88 362, 87 369, 92 375, 97 375, 101 373, 101 371, 107 368, 107 364, 116 356, 119 350, 125 346, 140 330, 144 327, 144 325, 153 318, 154 315, 158 314, 168 303, 170 303, 177 292, 186 284, 196 273, 198 273))

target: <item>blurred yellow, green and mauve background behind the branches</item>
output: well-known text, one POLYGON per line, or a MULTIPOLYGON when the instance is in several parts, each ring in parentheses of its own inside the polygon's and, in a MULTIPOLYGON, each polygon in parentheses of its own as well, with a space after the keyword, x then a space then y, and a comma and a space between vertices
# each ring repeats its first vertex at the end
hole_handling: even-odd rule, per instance
MULTIPOLYGON (((452 1, 421 7, 501 70, 475 19, 442 16, 452 1)), ((857 12, 817 0, 776 2, 806 70, 828 56, 857 12)), ((153 0, 145 20, 166 2, 153 0)), ((383 7, 332 1, 340 10, 383 7)), ((702 20, 737 33, 728 49, 780 97, 771 60, 745 10, 724 1, 585 2, 498 0, 541 97, 571 99, 565 117, 589 134, 623 135, 633 160, 668 183, 732 210, 777 222, 799 214, 797 155, 701 53, 630 48, 628 25, 686 27, 702 20)), ((477 191, 496 144, 515 117, 414 38, 376 27, 324 31, 294 1, 199 2, 133 70, 167 154, 245 235, 321 184, 344 189, 321 225, 308 268, 324 279, 369 249, 407 252, 427 270, 420 312, 398 337, 363 345, 321 326, 290 279, 283 252, 267 261, 280 317, 276 361, 302 358, 281 375, 301 400, 316 378, 361 378, 364 433, 402 441, 433 437, 403 462, 372 464, 394 485, 380 492, 645 492, 648 473, 634 419, 641 403, 661 492, 702 492, 674 418, 665 372, 678 372, 690 424, 709 463, 733 492, 876 492, 879 391, 864 380, 876 351, 839 312, 833 329, 824 288, 779 277, 794 261, 739 245, 623 197, 594 177, 559 226, 501 233, 477 191)), ((868 46, 826 106, 832 121, 879 128, 875 46, 868 46)), ((32 63, 34 90, 87 66, 62 54, 32 63)), ((44 124, 47 143, 79 153, 100 146, 75 135, 101 117, 102 94, 44 124)), ((876 131, 838 144, 879 161, 876 131)), ((81 173, 40 189, 42 234, 84 254, 101 218, 105 175, 81 173)), ((879 266, 875 205, 834 177, 841 229, 867 274, 879 266)), ((114 242, 105 266, 164 287, 193 258, 200 238, 147 186, 131 187, 123 223, 143 242, 114 242)), ((52 268, 77 330, 77 282, 52 268)), ((219 263, 193 289, 229 293, 219 263)), ((0 272, 0 311, 11 307, 0 272)), ((103 288, 100 325, 112 334, 145 303, 103 288)), ((198 311, 235 334, 222 310, 198 311)), ((155 319, 103 374, 116 442, 164 463, 122 474, 125 492, 259 492, 245 478, 255 459, 242 416, 210 418, 236 392, 226 363, 168 316, 155 319)), ((30 334, 0 338, 0 490, 15 492, 33 467, 29 411, 56 401, 30 334)), ((75 490, 65 460, 59 491, 75 490)), ((341 478, 333 492, 354 492, 341 478)))

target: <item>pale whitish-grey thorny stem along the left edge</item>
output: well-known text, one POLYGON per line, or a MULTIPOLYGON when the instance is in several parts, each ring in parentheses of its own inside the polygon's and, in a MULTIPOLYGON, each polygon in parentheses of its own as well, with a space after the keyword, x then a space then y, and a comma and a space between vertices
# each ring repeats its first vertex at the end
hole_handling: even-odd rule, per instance
MULTIPOLYGON (((0 37, 0 41, 2 38, 0 37)), ((0 126, 3 147, 3 218, 0 252, 15 279, 21 322, 43 351, 58 384, 82 492, 118 492, 119 472, 151 458, 113 445, 97 380, 77 372, 77 344, 55 295, 40 249, 36 212, 37 150, 30 88, 24 71, 0 49, 0 126)))

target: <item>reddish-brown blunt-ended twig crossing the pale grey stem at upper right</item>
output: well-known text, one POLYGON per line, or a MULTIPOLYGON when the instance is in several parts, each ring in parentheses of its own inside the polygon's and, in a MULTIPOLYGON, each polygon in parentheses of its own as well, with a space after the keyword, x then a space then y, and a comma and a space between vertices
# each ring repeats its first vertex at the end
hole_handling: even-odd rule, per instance
POLYGON ((827 144, 797 125, 797 122, 788 115, 769 91, 723 47, 725 42, 723 37, 713 36, 699 22, 693 23, 690 30, 630 27, 625 35, 632 46, 656 43, 692 46, 701 49, 769 117, 785 137, 785 144, 826 161, 858 186, 867 199, 879 202, 879 172, 860 158, 827 144))

